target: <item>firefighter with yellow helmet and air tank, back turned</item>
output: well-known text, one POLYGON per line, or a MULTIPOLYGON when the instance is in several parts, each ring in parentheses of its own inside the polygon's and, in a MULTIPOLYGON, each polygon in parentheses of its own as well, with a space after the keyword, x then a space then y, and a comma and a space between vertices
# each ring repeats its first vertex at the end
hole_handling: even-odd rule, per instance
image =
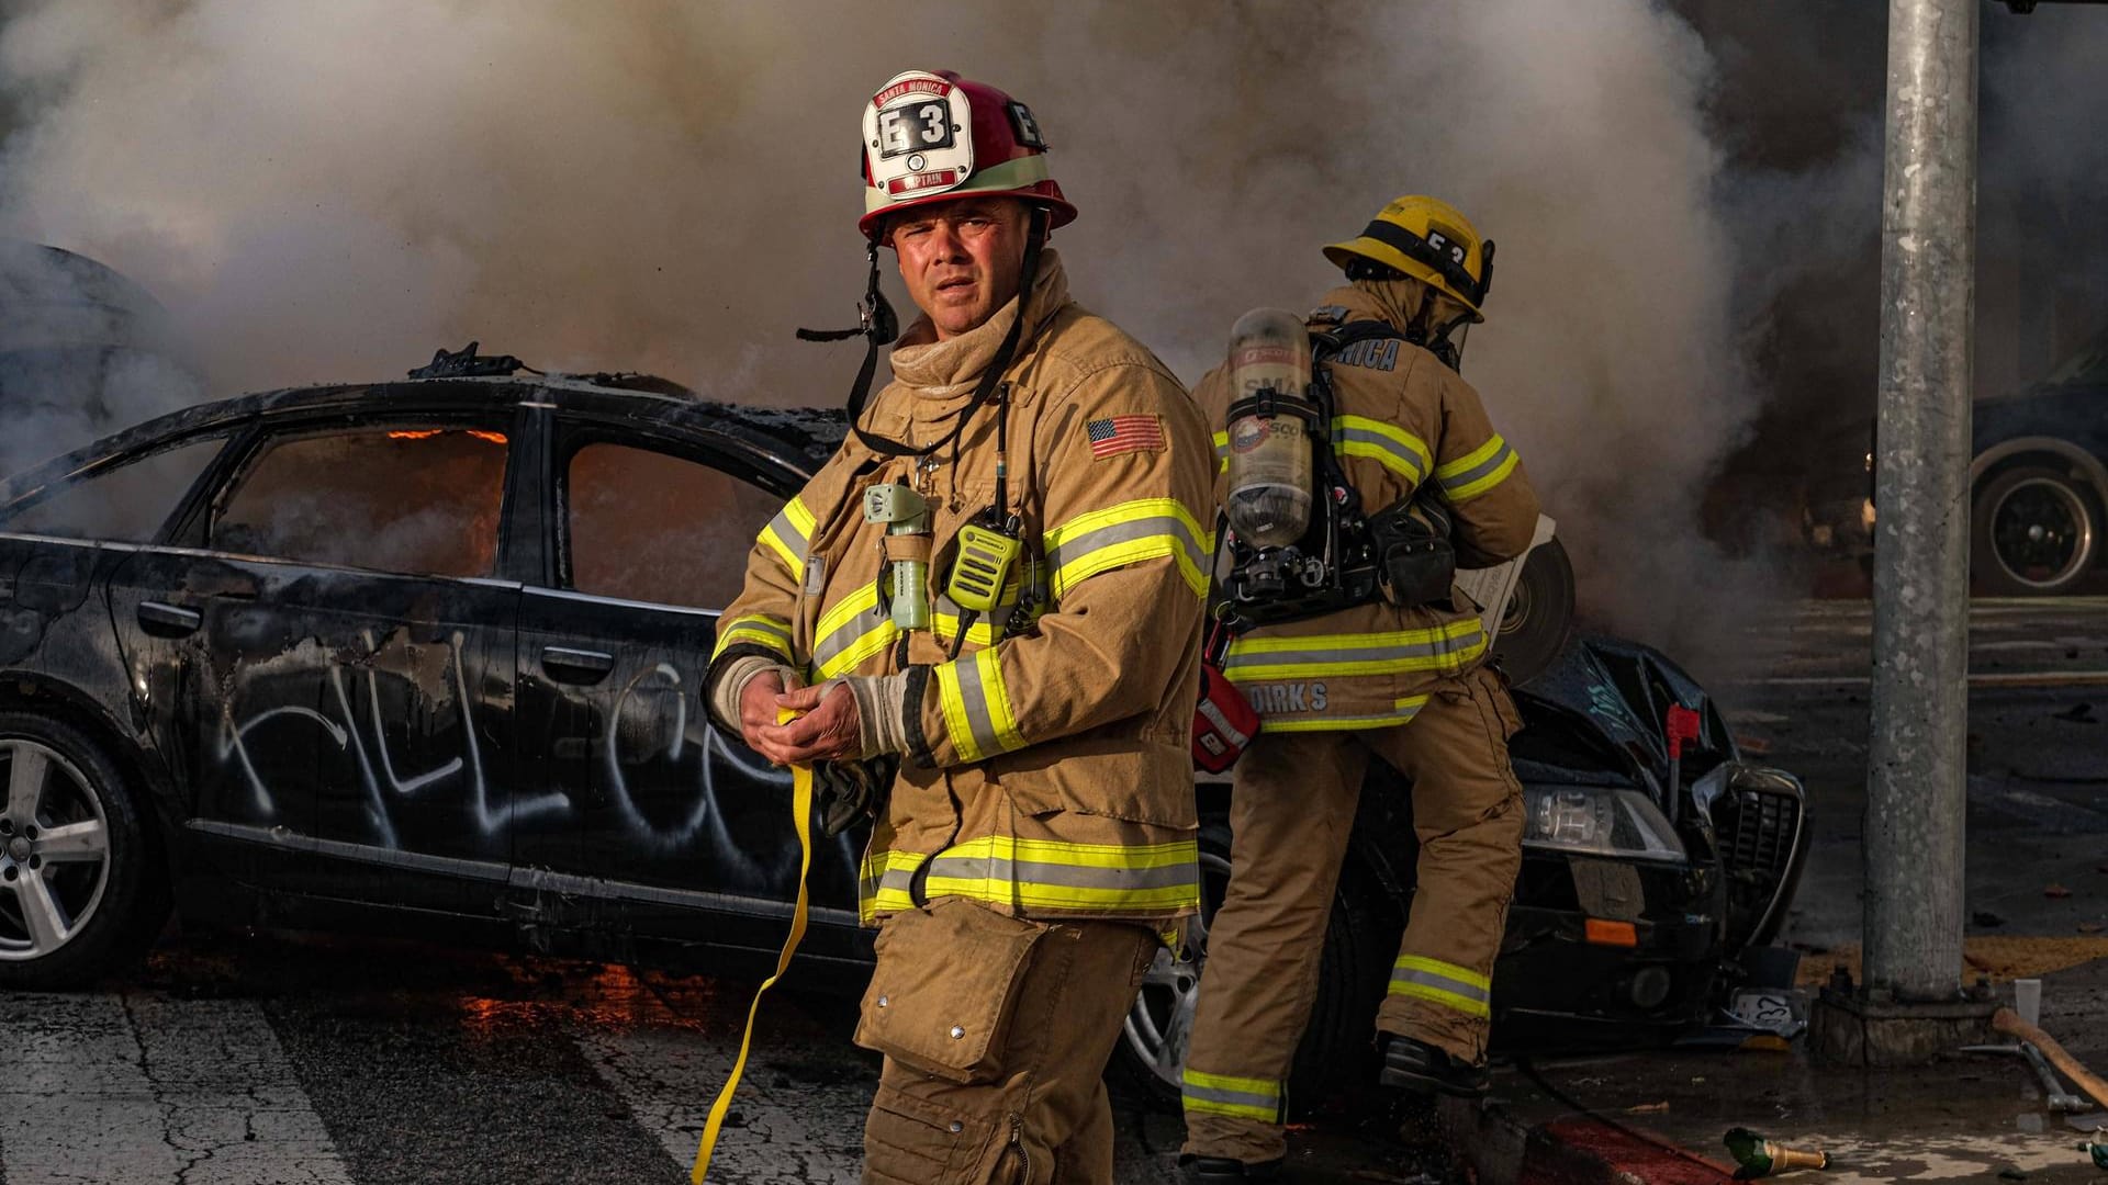
POLYGON ((1326 257, 1347 283, 1305 318, 1246 314, 1229 365, 1193 392, 1221 426, 1227 519, 1216 601, 1231 628, 1210 658, 1258 715, 1185 1065, 1193 1181, 1277 1172, 1370 757, 1412 780, 1421 841, 1377 1014, 1383 1084, 1484 1092, 1492 959, 1522 860, 1516 706, 1484 666, 1482 607, 1452 584, 1459 557, 1522 555, 1537 527, 1516 451, 1455 369, 1452 331, 1482 316, 1492 242, 1406 196, 1326 257))

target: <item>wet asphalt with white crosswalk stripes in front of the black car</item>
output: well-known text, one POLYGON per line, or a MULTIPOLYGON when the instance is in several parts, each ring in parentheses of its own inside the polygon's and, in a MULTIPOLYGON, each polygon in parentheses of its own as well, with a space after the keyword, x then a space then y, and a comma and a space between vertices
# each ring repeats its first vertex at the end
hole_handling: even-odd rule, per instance
MULTIPOLYGON (((0 995, 0 1181, 675 1185, 753 987, 407 943, 186 938, 116 991, 0 995)), ((856 1181, 877 1063, 852 1027, 852 999, 769 999, 710 1181, 856 1181)), ((1431 1134, 1395 1134, 1408 1118, 1334 1107, 1301 1137, 1296 1181, 1421 1179, 1444 1158, 1431 1134)), ((1119 1181, 1176 1181, 1176 1115, 1124 1092, 1115 1120, 1119 1181)))

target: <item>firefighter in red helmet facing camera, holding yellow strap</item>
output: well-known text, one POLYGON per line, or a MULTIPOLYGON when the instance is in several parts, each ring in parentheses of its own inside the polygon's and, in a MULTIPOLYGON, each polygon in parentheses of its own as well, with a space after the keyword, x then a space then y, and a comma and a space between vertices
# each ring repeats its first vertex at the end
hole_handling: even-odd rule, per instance
POLYGON ((1102 1183, 1107 1056, 1199 907, 1214 453, 1170 371, 1069 299, 1046 236, 1075 207, 1022 103, 906 72, 862 131, 854 430, 761 531, 710 711, 778 763, 898 759, 862 871, 864 1181, 1102 1183), (866 409, 881 245, 923 316, 866 409))

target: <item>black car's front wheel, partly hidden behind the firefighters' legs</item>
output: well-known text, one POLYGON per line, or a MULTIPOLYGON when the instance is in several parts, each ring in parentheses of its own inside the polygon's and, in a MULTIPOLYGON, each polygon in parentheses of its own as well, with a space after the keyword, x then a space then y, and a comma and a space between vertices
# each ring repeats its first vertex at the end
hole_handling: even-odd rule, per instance
MULTIPOLYGON (((1128 1025, 1113 1048, 1109 1077, 1121 1096, 1138 1096, 1159 1109, 1178 1109, 1178 1071, 1183 1052, 1166 1056, 1157 1035, 1164 1033, 1176 1006, 1191 1008, 1197 985, 1206 978, 1206 928, 1223 905, 1229 886, 1229 820, 1204 816, 1199 827, 1202 921, 1195 928, 1197 955, 1172 959, 1157 953, 1157 968, 1136 997, 1128 1025)), ((1301 1115, 1343 1086, 1370 1084, 1377 1077, 1374 1021, 1377 1004, 1389 980, 1398 953, 1400 919, 1387 898, 1353 865, 1341 871, 1332 894, 1332 917, 1326 926, 1318 959, 1318 999, 1311 1006, 1303 1042, 1288 1073, 1290 1113, 1301 1115)))

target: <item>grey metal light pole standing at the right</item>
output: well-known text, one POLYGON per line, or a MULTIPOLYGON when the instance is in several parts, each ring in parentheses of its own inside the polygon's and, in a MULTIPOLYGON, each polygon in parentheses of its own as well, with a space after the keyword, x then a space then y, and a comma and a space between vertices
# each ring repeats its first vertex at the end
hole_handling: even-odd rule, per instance
POLYGON ((1897 1002, 1960 995, 1979 4, 1889 0, 1866 985, 1897 1002))

